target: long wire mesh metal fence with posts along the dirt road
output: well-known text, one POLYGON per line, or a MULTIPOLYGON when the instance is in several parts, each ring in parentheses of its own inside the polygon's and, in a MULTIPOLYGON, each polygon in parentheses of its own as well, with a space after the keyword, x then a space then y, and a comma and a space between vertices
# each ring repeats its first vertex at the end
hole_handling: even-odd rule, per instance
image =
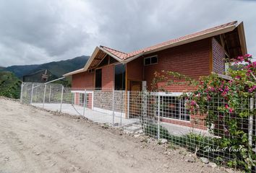
POLYGON ((179 92, 128 92, 23 83, 20 101, 46 110, 82 115, 97 123, 124 128, 129 133, 145 133, 224 167, 244 169, 247 164, 254 172, 255 98, 236 98, 236 112, 223 110, 227 105, 223 98, 210 98, 205 110, 192 112, 187 108, 192 98, 184 98, 179 92), (214 116, 208 117, 210 113, 214 116))

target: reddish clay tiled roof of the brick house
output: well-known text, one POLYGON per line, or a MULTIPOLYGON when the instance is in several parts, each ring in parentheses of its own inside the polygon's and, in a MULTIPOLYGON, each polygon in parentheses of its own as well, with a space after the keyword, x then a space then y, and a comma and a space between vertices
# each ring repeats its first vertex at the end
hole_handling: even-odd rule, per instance
POLYGON ((205 34, 208 34, 210 32, 215 32, 215 31, 218 31, 218 30, 221 30, 221 29, 224 29, 226 27, 230 27, 232 25, 236 25, 236 21, 234 22, 229 22, 229 23, 226 23, 224 25, 219 25, 217 27, 211 27, 207 30, 202 30, 200 32, 195 32, 193 34, 190 34, 190 35, 185 35, 183 37, 179 37, 179 38, 176 38, 176 39, 173 39, 173 40, 168 40, 166 42, 163 42, 163 43, 159 43, 157 45, 153 45, 153 46, 150 46, 148 48, 142 48, 140 50, 135 50, 133 52, 130 52, 130 53, 124 53, 124 52, 121 52, 119 50, 115 50, 115 49, 112 49, 112 48, 108 48, 106 46, 103 46, 101 45, 101 48, 103 48, 104 50, 108 51, 108 53, 111 53, 112 55, 116 56, 117 58, 120 58, 121 60, 126 60, 128 58, 132 58, 134 56, 137 56, 139 55, 140 53, 147 53, 148 51, 150 50, 155 50, 155 49, 158 49, 158 48, 162 48, 164 46, 167 46, 167 45, 172 45, 174 43, 179 43, 183 40, 188 40, 188 39, 191 39, 193 37, 197 37, 197 36, 200 36, 200 35, 205 35, 205 34))

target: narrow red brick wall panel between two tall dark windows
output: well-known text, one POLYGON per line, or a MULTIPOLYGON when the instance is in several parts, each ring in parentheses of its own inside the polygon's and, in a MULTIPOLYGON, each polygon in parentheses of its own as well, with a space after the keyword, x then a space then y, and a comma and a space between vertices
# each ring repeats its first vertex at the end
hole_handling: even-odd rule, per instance
POLYGON ((102 68, 102 88, 112 89, 114 87, 114 64, 102 68))

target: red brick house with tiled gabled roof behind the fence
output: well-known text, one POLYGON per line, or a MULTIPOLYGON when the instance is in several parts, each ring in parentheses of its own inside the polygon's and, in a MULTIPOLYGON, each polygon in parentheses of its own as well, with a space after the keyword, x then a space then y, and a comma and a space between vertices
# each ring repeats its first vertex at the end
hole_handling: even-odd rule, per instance
MULTIPOLYGON (((246 53, 243 22, 229 22, 130 53, 101 45, 95 48, 84 68, 64 76, 72 76, 72 92, 76 93, 77 102, 81 100, 81 93, 88 89, 86 98, 93 109, 93 91, 97 89, 131 93, 150 90, 154 72, 162 70, 176 71, 193 79, 212 72, 223 74, 226 61, 246 53)), ((165 82, 159 86, 163 84, 165 82)), ((200 128, 200 117, 196 121, 196 116, 188 115, 184 100, 178 98, 182 92, 195 87, 171 84, 166 89, 171 93, 159 93, 161 102, 166 105, 161 111, 161 120, 187 126, 198 124, 200 128)), ((124 105, 129 104, 132 104, 130 100, 124 105)), ((131 110, 132 106, 136 104, 126 107, 126 117, 132 115, 132 111, 138 112, 137 108, 131 110)))

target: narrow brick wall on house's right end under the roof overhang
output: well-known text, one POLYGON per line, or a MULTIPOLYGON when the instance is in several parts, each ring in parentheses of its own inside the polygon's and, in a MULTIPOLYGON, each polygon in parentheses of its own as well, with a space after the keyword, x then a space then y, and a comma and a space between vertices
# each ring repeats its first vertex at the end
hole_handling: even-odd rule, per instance
POLYGON ((223 74, 225 71, 225 52, 216 39, 213 38, 213 71, 223 74))

